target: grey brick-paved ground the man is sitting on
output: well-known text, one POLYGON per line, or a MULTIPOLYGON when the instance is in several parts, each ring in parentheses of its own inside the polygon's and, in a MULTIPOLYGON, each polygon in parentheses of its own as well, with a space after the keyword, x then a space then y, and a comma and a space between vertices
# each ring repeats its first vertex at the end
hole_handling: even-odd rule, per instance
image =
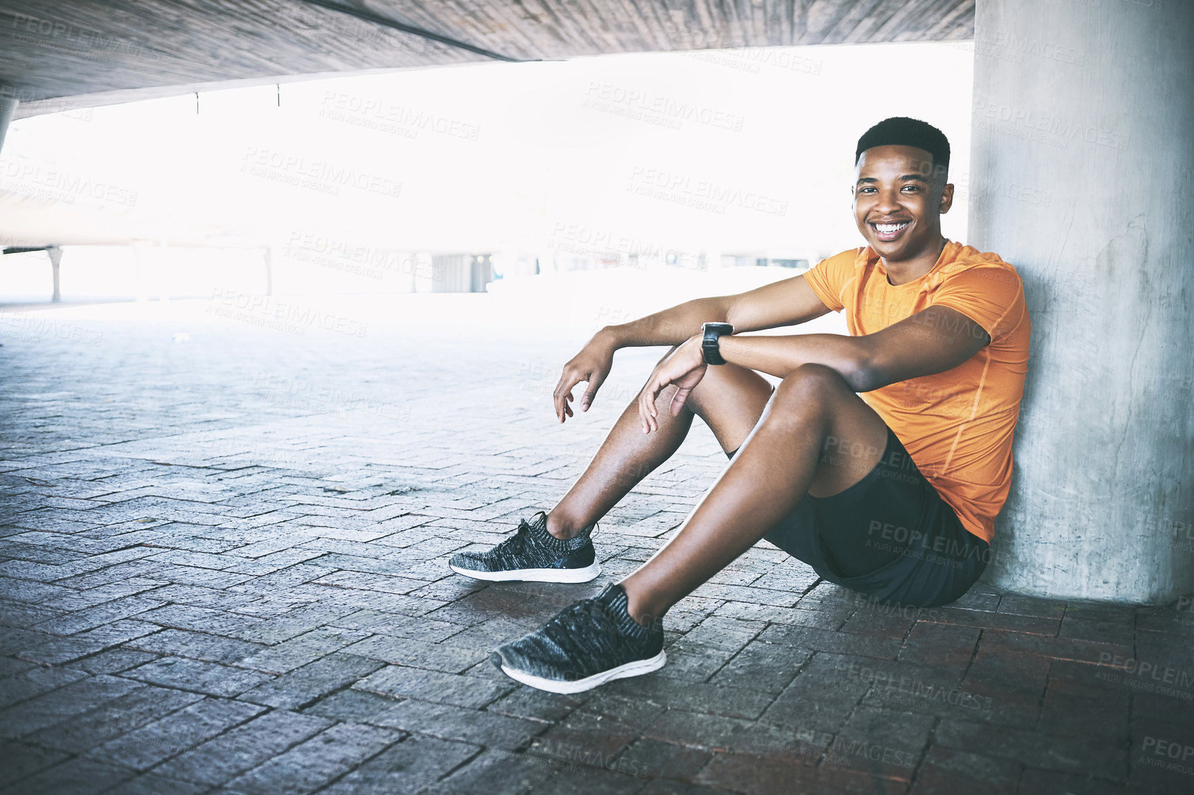
POLYGON ((450 322, 485 300, 364 337, 10 315, 2 791, 1194 791, 1174 605, 978 586, 888 612, 761 544, 669 615, 658 673, 564 697, 496 672, 724 458, 694 430, 603 524, 592 584, 451 575, 562 494, 657 356, 620 353, 615 400, 559 426, 580 338, 450 322))

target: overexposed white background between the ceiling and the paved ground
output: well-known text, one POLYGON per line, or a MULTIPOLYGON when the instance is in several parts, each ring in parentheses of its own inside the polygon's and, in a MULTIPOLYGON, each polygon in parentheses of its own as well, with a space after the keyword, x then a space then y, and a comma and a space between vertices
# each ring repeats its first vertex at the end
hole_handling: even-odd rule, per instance
MULTIPOLYGON (((887 116, 949 136, 960 201, 943 227, 965 240, 971 79, 967 44, 833 45, 435 68, 283 84, 281 106, 269 85, 201 94, 198 113, 191 94, 35 117, 12 124, 0 158, 0 242, 67 244, 68 301, 135 295, 131 240, 170 245, 152 294, 174 297, 264 290, 258 247, 298 239, 493 252, 499 267, 592 235, 708 253, 706 275, 578 277, 650 283, 667 303, 672 285, 764 278, 714 273, 721 253, 816 261, 860 245, 854 146, 887 116), (702 183, 728 198, 634 191, 663 181, 679 186, 671 199, 702 183), (84 245, 99 242, 113 245, 84 245)), ((276 292, 387 284, 275 260, 276 292)), ((45 254, 0 259, 0 301, 49 290, 45 254)))

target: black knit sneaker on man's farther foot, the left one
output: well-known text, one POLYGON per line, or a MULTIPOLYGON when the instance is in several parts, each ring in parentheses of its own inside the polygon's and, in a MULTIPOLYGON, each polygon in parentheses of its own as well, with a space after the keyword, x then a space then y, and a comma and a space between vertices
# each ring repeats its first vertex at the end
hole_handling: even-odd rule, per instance
POLYGON ((456 553, 451 571, 478 580, 533 580, 535 583, 587 583, 601 574, 590 534, 560 541, 547 531, 547 514, 540 511, 518 531, 487 551, 456 553))

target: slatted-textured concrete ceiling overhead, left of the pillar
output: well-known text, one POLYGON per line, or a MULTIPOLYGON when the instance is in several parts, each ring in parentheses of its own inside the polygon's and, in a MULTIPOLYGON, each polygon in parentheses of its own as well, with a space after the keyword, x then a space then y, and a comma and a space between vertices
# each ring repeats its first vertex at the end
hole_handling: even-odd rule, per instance
POLYGON ((490 60, 970 39, 974 0, 0 0, 16 117, 490 60))

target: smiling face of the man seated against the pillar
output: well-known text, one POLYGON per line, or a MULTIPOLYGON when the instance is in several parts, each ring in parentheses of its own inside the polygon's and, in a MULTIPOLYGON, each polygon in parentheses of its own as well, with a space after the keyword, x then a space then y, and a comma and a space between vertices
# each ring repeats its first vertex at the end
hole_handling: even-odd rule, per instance
POLYGON ((854 181, 854 220, 885 261, 901 261, 941 241, 941 214, 949 210, 954 186, 933 155, 905 146, 872 147, 858 158, 854 181))

